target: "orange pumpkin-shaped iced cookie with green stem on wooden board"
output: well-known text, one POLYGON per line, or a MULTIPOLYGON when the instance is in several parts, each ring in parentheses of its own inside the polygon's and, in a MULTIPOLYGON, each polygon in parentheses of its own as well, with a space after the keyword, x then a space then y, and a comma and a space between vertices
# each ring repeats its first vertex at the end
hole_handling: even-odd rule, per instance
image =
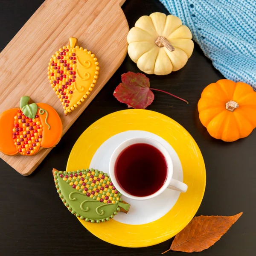
POLYGON ((61 139, 62 123, 54 108, 45 103, 29 104, 29 100, 23 96, 20 108, 0 114, 0 151, 4 154, 31 156, 61 139))

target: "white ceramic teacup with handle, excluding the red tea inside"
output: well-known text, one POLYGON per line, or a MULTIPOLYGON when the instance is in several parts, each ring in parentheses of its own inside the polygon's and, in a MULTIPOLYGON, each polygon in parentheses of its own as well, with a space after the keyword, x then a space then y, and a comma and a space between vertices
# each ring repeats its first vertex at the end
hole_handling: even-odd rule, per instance
POLYGON ((122 195, 125 195, 128 198, 134 199, 134 200, 146 200, 146 199, 151 199, 156 197, 157 195, 160 195, 165 189, 174 189, 180 192, 186 192, 188 186, 179 181, 179 180, 175 180, 172 178, 173 175, 173 163, 172 163, 172 158, 169 155, 167 149, 158 141, 153 140, 151 138, 132 138, 129 140, 125 140, 123 143, 121 143, 113 152, 113 154, 111 155, 111 159, 109 162, 109 175, 111 177, 111 180, 114 184, 114 186, 116 187, 116 189, 122 193, 122 195), (119 155, 122 153, 122 151, 129 147, 130 145, 133 144, 137 144, 137 143, 145 143, 145 144, 149 144, 154 146, 155 148, 157 148, 165 157, 166 159, 166 163, 167 163, 167 178, 166 178, 166 182, 163 184, 163 186, 154 194, 152 195, 147 195, 147 196, 143 196, 143 197, 138 197, 138 196, 134 196, 134 195, 130 195, 129 193, 127 193, 126 191, 124 191, 122 189, 122 187, 119 185, 119 183, 116 180, 116 175, 115 175, 115 163, 117 158, 119 157, 119 155))

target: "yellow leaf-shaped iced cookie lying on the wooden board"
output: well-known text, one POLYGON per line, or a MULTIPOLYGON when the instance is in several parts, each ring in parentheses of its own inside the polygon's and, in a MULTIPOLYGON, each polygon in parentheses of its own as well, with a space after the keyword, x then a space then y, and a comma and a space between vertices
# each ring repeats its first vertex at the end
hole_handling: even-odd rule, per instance
POLYGON ((55 52, 48 67, 50 84, 62 102, 65 115, 84 102, 99 75, 95 55, 76 44, 77 39, 70 38, 70 45, 55 52))

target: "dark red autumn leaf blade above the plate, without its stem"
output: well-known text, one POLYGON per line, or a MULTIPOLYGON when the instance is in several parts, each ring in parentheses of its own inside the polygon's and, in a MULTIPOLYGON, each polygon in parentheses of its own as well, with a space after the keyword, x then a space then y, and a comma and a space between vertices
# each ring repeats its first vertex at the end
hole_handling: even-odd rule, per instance
POLYGON ((113 95, 128 108, 145 109, 154 100, 154 93, 149 89, 149 79, 141 73, 128 72, 121 76, 120 83, 113 95))

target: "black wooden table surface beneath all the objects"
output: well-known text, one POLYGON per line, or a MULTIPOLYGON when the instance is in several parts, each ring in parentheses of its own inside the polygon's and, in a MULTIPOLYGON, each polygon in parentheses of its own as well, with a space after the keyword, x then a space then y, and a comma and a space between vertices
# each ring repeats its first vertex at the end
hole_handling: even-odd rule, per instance
MULTIPOLYGON (((41 3, 43 0, 0 0, 0 50, 41 3)), ((126 0, 122 9, 130 27, 142 15, 152 12, 168 14, 158 0, 126 0)), ((149 256, 161 255, 169 248, 172 239, 151 247, 124 248, 96 238, 63 206, 52 179, 52 168, 65 169, 74 143, 89 125, 102 116, 127 108, 113 97, 113 90, 119 84, 121 74, 128 71, 140 72, 127 55, 121 67, 32 175, 23 177, 0 160, 0 256, 149 256)), ((207 186, 196 215, 244 212, 220 241, 192 255, 252 256, 256 250, 256 131, 245 139, 224 143, 210 137, 201 125, 197 111, 201 92, 209 83, 224 77, 214 69, 197 44, 183 69, 168 76, 148 77, 151 87, 189 101, 187 105, 164 93, 154 92, 155 100, 148 109, 163 113, 183 125, 202 151, 207 186)), ((185 253, 170 251, 166 255, 185 253)))

